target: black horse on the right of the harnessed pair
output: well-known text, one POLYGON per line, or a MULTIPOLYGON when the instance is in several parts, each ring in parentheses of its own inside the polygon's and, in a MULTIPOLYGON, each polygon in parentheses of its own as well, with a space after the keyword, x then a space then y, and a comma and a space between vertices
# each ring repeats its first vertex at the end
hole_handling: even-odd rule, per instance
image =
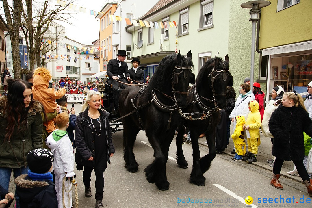
MULTIPOLYGON (((190 182, 197 186, 205 185, 206 178, 203 173, 209 169, 212 160, 216 157, 215 127, 220 120, 219 108, 226 107, 226 88, 233 86, 233 77, 228 68, 229 57, 227 55, 225 61, 217 56, 207 60, 197 75, 196 84, 190 89, 191 93, 187 97, 188 105, 182 108, 183 112, 190 113, 180 111, 189 128, 193 148, 193 169, 190 182), (209 153, 200 158, 198 137, 202 133, 206 135, 209 153)), ((179 129, 182 129, 182 126, 179 129)), ((188 168, 188 162, 182 150, 183 134, 184 131, 178 131, 177 163, 181 168, 188 168)))

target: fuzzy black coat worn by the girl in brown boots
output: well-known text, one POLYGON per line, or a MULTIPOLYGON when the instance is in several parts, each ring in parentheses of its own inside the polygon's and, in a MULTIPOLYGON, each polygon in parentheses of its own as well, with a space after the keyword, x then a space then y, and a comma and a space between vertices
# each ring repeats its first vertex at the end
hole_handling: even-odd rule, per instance
POLYGON ((307 111, 280 105, 271 115, 269 130, 274 136, 272 155, 285 161, 305 158, 303 132, 312 137, 312 121, 307 111))

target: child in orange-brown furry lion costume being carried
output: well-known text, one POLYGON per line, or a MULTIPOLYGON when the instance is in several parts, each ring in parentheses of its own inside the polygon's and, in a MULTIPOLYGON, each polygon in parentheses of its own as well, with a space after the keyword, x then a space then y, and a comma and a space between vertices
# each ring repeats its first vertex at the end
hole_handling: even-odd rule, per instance
MULTIPOLYGON (((61 87, 58 91, 56 91, 54 88, 48 89, 49 81, 51 80, 52 75, 50 71, 44 67, 34 70, 33 77, 33 98, 40 101, 46 113, 54 113, 57 109, 57 103, 55 102, 55 99, 63 97, 66 93, 66 89, 63 87, 61 87)), ((54 120, 55 117, 51 120, 48 120, 47 123, 43 123, 43 125, 46 127, 46 131, 48 134, 56 130, 54 120)))

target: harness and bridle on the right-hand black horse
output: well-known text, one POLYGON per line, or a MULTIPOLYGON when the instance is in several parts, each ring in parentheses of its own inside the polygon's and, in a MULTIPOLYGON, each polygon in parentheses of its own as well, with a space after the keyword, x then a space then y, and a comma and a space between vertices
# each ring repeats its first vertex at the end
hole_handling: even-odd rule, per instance
MULTIPOLYGON (((197 92, 196 92, 196 87, 195 87, 195 86, 196 86, 196 83, 195 83, 194 85, 191 86, 191 89, 194 88, 194 92, 188 90, 188 92, 191 92, 191 93, 195 94, 195 100, 193 100, 192 102, 189 102, 184 108, 186 108, 186 107, 188 107, 189 105, 195 103, 195 104, 197 104, 197 107, 198 107, 200 110, 202 110, 202 116, 200 116, 199 118, 192 118, 192 116, 194 116, 194 115, 200 115, 200 113, 183 113, 183 112, 182 112, 182 109, 181 109, 180 107, 178 107, 178 112, 180 113, 180 115, 181 115, 184 119, 187 119, 187 120, 204 120, 204 119, 209 118, 209 124, 210 124, 210 123, 211 123, 211 117, 210 117, 210 115, 213 114, 213 113, 216 113, 216 112, 218 111, 218 107, 215 106, 214 108, 211 108, 211 107, 209 107, 209 106, 203 104, 203 103, 200 101, 199 97, 201 97, 201 98, 203 98, 203 99, 205 99, 205 100, 207 100, 207 101, 209 101, 209 102, 211 102, 212 104, 215 105, 215 96, 222 96, 222 97, 227 96, 227 94, 216 94, 216 93, 215 93, 215 90, 214 90, 214 87, 213 87, 213 84, 214 84, 214 80, 216 79, 216 77, 217 77, 218 75, 221 75, 221 73, 223 73, 223 72, 229 72, 229 71, 230 71, 229 69, 225 69, 225 68, 223 68, 223 69, 221 69, 221 70, 219 70, 219 69, 212 69, 211 73, 208 75, 208 77, 207 77, 208 79, 209 79, 209 77, 211 77, 212 99, 207 99, 207 98, 205 98, 205 97, 202 97, 202 96, 198 95, 197 92), (218 72, 218 73, 217 73, 215 76, 213 76, 213 72, 218 72)), ((225 73, 223 74, 222 79, 223 79, 224 81, 227 80, 227 75, 226 75, 225 73)))

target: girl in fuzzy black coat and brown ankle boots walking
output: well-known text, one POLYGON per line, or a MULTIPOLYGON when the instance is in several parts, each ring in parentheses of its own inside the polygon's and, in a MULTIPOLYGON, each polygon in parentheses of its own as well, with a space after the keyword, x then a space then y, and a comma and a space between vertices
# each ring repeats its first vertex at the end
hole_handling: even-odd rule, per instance
POLYGON ((284 94, 282 105, 271 115, 269 130, 274 136, 272 155, 276 157, 271 185, 283 189, 279 181, 280 169, 285 160, 292 160, 301 179, 308 188, 309 196, 312 196, 312 180, 309 178, 303 164, 305 157, 303 132, 310 137, 312 136, 312 121, 300 94, 294 92, 284 94))

